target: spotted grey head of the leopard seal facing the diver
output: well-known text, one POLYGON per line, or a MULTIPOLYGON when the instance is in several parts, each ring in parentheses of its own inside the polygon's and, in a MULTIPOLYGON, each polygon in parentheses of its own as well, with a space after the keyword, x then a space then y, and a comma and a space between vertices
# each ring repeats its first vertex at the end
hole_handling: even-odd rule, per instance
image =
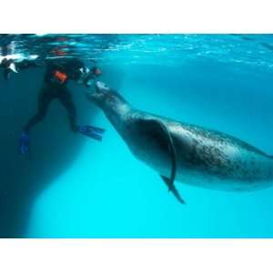
POLYGON ((100 81, 96 82, 96 92, 87 93, 87 98, 103 110, 113 110, 127 105, 126 100, 118 92, 100 81))

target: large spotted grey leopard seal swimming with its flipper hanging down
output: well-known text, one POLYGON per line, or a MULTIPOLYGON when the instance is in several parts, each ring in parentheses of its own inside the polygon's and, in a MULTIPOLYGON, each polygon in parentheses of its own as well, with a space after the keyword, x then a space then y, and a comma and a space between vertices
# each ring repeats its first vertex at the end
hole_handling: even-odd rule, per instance
POLYGON ((226 191, 272 186, 273 157, 235 136, 137 110, 102 82, 86 96, 181 203, 175 180, 226 191))

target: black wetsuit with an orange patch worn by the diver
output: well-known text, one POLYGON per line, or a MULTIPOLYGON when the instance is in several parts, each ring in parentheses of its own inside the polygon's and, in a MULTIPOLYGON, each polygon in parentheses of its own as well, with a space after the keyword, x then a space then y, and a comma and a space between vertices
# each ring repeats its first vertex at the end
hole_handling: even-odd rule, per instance
POLYGON ((58 99, 66 107, 71 130, 74 132, 77 130, 76 107, 67 88, 67 82, 79 80, 81 77, 80 69, 84 67, 84 64, 76 58, 50 61, 46 64, 44 86, 38 97, 38 109, 35 116, 30 118, 24 128, 26 133, 29 133, 33 126, 44 119, 48 106, 54 99, 58 99))

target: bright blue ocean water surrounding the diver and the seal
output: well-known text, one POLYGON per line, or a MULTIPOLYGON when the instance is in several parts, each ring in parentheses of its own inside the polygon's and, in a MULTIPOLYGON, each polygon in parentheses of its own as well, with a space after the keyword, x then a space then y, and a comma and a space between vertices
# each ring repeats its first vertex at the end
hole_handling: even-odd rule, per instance
MULTIPOLYGON (((101 80, 136 108, 217 129, 273 154, 272 35, 7 35, 0 43, 19 57, 59 57, 50 53, 61 48, 96 61, 101 80)), ((34 130, 32 159, 19 157, 15 140, 35 110, 42 76, 42 69, 24 71, 3 86, 1 104, 11 110, 1 113, 8 123, 1 145, 9 154, 2 184, 13 185, 2 191, 3 223, 11 223, 3 237, 273 237, 273 187, 230 193, 177 182, 187 201, 182 206, 74 83, 78 119, 105 127, 103 142, 71 134, 64 109, 54 103, 34 130), (36 190, 40 179, 46 183, 36 190)))

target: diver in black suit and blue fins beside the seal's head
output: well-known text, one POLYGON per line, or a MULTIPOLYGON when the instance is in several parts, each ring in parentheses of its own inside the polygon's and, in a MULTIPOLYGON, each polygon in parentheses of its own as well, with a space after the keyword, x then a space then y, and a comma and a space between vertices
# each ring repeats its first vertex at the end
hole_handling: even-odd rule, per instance
MULTIPOLYGON (((20 67, 29 68, 31 66, 32 65, 25 63, 21 64, 20 67)), ((45 64, 44 83, 38 96, 37 112, 24 126, 19 139, 20 154, 29 152, 30 131, 36 124, 45 118, 48 106, 54 99, 59 100, 59 102, 65 106, 68 113, 70 128, 73 132, 81 133, 101 141, 102 135, 105 132, 104 129, 96 126, 78 126, 76 124, 76 107, 67 87, 69 80, 74 80, 89 87, 91 86, 92 81, 101 74, 102 71, 100 68, 94 66, 89 69, 77 58, 62 58, 47 61, 45 64)))

